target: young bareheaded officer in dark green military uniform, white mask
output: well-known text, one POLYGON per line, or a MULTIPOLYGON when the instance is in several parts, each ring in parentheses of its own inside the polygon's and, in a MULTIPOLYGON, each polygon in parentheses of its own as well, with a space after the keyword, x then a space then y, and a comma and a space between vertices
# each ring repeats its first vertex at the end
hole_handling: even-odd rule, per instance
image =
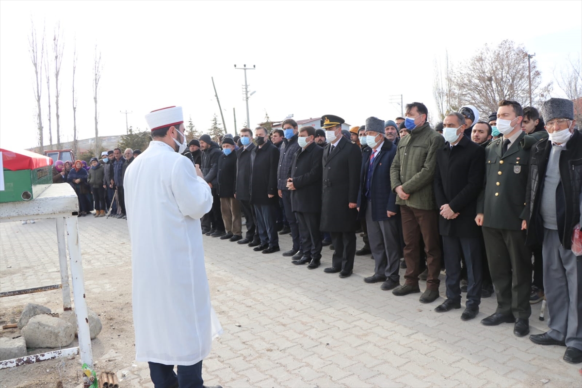
MULTIPOLYGON (((531 252, 526 247, 526 186, 530 148, 538 139, 521 130, 523 108, 499 102, 497 129, 502 138, 485 149, 485 185, 477 201, 475 222, 482 226, 491 279, 497 296, 486 326, 515 323, 513 333, 530 332, 531 252)), ((543 132, 540 136, 548 137, 543 132)))

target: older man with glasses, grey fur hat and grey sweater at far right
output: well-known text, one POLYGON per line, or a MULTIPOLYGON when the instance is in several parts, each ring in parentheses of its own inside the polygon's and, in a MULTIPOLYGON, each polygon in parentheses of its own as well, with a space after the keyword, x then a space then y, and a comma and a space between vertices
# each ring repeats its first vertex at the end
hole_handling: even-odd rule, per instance
MULTIPOLYGON (((548 301, 548 332, 530 340, 540 345, 566 346, 563 359, 582 362, 582 256, 574 253, 573 232, 582 220, 582 134, 574 129, 574 104, 551 98, 541 106, 549 138, 531 149, 526 197, 528 245, 542 243, 544 291, 548 301)), ((580 241, 578 241, 580 244, 580 241)))

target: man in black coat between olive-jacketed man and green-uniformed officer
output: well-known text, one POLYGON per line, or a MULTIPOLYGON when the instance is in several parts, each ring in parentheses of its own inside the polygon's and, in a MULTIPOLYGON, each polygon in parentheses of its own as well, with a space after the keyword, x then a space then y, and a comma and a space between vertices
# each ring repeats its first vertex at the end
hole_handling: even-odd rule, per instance
POLYGON ((461 307, 463 256, 469 281, 466 309, 461 315, 463 321, 475 318, 481 304, 481 229, 475 225, 474 218, 485 174, 485 148, 466 136, 466 126, 461 113, 445 116, 443 136, 446 143, 437 151, 434 181, 446 269, 446 300, 435 311, 461 307))

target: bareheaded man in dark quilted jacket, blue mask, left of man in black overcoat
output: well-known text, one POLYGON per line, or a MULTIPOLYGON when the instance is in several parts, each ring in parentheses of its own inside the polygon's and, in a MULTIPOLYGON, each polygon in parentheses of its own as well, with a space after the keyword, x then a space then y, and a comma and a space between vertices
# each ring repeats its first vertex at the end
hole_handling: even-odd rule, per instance
POLYGON ((287 188, 288 171, 293 162, 293 155, 299 151, 301 147, 297 144, 297 122, 293 119, 285 119, 281 125, 287 143, 283 143, 279 148, 279 163, 277 165, 277 194, 283 201, 283 211, 285 218, 289 223, 289 229, 283 228, 279 234, 287 234, 291 232, 292 247, 290 250, 283 252, 285 257, 294 257, 294 259, 301 258, 301 240, 299 237, 299 226, 297 219, 291 209, 291 193, 287 188))

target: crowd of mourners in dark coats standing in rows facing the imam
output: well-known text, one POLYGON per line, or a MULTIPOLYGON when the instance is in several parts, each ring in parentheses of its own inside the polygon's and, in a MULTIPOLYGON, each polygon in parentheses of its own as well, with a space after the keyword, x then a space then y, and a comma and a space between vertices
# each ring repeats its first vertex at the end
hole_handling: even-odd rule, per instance
MULTIPOLYGON (((364 282, 402 297, 425 280, 423 303, 439 298, 445 270, 435 311, 461 308, 466 293, 460 318, 469 321, 495 294, 496 311, 481 323, 513 323, 519 337, 529 333, 531 304, 545 299, 549 330, 530 340, 565 346, 566 361, 582 362, 582 133, 573 102, 498 105, 487 119, 463 106, 434 128, 427 107, 413 102, 405 117, 370 117, 349 130, 324 115, 321 129, 289 118, 271 131, 204 134, 183 153, 214 197, 202 233, 262 254, 280 251, 279 235, 290 234, 282 255, 312 270, 329 245, 324 272, 341 278, 352 275, 354 256, 371 255, 364 282)), ((56 162, 54 181, 73 186, 79 216, 111 207, 126 218, 123 176, 139 153, 56 162)))

